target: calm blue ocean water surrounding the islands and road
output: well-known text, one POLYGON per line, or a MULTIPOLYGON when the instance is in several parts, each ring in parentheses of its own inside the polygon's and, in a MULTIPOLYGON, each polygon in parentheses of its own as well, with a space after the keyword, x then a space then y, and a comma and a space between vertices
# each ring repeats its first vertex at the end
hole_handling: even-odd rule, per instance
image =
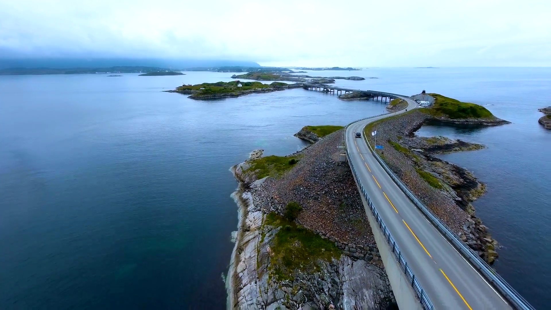
MULTIPOLYGON (((345 125, 384 103, 304 89, 214 101, 166 93, 234 73, 0 76, 0 309, 223 309, 237 226, 231 165, 255 148, 305 146, 305 125, 345 125)), ((512 122, 428 124, 488 148, 441 156, 488 184, 477 215, 503 246, 495 264, 536 308, 551 296, 551 68, 369 68, 336 85, 483 104, 512 122)))

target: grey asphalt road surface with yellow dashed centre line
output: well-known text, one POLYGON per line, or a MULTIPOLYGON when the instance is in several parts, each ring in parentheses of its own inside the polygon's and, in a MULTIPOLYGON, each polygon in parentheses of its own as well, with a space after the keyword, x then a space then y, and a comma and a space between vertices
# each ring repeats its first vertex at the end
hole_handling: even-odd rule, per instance
MULTIPOLYGON (((408 110, 417 106, 411 99, 402 99, 408 101, 408 110)), ((435 309, 511 309, 398 188, 365 140, 355 138, 356 132, 363 137, 363 129, 370 122, 403 112, 358 121, 348 127, 348 151, 361 183, 435 309)))

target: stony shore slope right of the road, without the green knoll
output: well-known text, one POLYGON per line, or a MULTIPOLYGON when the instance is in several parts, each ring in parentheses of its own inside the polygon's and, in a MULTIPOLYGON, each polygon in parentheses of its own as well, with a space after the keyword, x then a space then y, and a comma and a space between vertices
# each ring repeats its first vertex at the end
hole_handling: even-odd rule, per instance
POLYGON ((382 154, 385 162, 408 188, 463 242, 491 263, 497 257, 497 242, 491 238, 487 227, 474 216, 471 204, 485 193, 485 184, 467 169, 431 156, 431 150, 440 153, 482 146, 441 137, 412 136, 425 121, 431 119, 422 110, 414 110, 382 121, 377 124, 377 144, 384 146, 382 154))

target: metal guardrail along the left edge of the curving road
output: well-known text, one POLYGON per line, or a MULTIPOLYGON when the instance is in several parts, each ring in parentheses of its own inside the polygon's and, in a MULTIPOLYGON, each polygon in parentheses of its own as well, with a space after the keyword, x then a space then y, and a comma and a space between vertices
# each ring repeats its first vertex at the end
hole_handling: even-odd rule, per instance
MULTIPOLYGON (((370 116, 370 117, 365 117, 364 119, 361 119, 361 120, 366 120, 366 119, 370 119, 372 117, 377 117, 377 116, 381 116, 381 115, 383 115, 383 114, 370 116)), ((357 120, 357 121, 361 121, 361 120, 357 120)), ((357 121, 354 121, 354 122, 357 122, 357 121)), ((354 122, 352 122, 352 123, 348 124, 346 127, 344 127, 345 132, 346 132, 346 129, 348 129, 348 126, 350 126, 354 122)), ((344 139, 344 143, 345 144, 347 143, 346 139, 344 139)), ((369 199, 368 192, 365 190, 364 185, 361 184, 360 178, 358 177, 358 173, 356 173, 356 169, 354 168, 354 163, 352 162, 352 158, 350 158, 350 153, 348 152, 348 147, 347 147, 346 154, 347 154, 347 158, 348 158, 348 163, 350 165, 350 168, 352 169, 352 173, 354 174, 354 179, 356 179, 356 182, 358 183, 358 185, 360 187, 361 194, 364 195, 365 201, 368 202, 369 209, 371 210, 371 213, 373 213, 373 216, 375 217, 375 220, 379 224, 379 227, 381 228, 383 236, 385 236, 386 241, 388 242, 388 245, 392 248, 392 253, 396 257, 396 259, 398 261, 398 264, 400 265, 400 267, 402 268, 402 271, 404 272, 404 275, 406 275, 406 278, 409 281, 409 285, 412 286, 413 291, 415 292, 415 295, 418 298, 421 305, 423 306, 423 308, 426 309, 426 310, 433 310, 434 309, 433 303, 430 301, 429 297, 426 295, 425 291, 423 290, 423 287, 419 284, 417 279, 415 279, 415 275, 413 274, 413 271, 408 267, 408 263, 407 263, 406 259, 404 259, 404 257, 402 256, 402 252, 400 251, 400 249, 398 247, 398 244, 396 243, 395 239, 392 237, 392 234, 390 233, 390 231, 386 227, 385 222, 382 221, 382 218, 379 215, 379 212, 377 212, 377 209, 375 208, 375 206, 372 204, 371 199, 369 199)))

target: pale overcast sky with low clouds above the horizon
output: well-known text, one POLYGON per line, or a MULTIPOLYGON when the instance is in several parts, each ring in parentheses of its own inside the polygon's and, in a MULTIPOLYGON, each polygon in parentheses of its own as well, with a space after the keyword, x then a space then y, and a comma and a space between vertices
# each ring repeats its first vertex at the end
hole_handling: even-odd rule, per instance
POLYGON ((0 57, 551 66, 551 1, 0 0, 0 57))

